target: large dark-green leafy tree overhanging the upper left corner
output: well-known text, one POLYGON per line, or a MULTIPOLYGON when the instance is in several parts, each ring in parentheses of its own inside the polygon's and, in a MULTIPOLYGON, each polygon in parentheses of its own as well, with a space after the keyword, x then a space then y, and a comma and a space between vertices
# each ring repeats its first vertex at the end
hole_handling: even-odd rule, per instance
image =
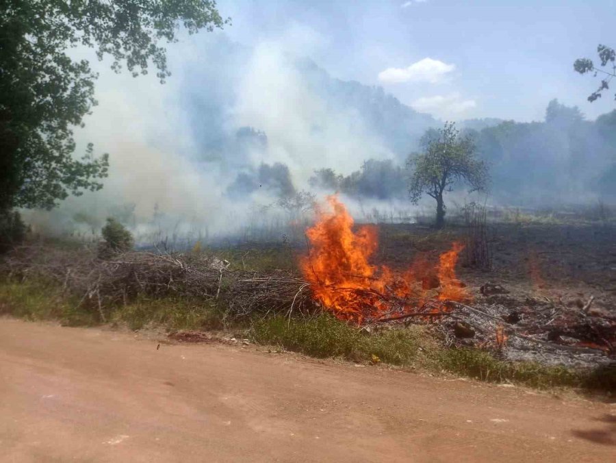
POLYGON ((108 156, 88 145, 73 158, 73 128, 83 127, 94 99, 87 60, 69 49, 96 50, 136 76, 150 63, 164 82, 170 75, 160 42, 222 27, 209 0, 0 0, 0 212, 13 207, 53 208, 70 193, 102 188, 108 156))

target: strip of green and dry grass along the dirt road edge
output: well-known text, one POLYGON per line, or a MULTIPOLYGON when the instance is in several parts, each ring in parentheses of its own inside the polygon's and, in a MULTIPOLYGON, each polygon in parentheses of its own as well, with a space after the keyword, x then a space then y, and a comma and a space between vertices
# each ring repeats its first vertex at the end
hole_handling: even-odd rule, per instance
MULTIPOLYGON (((68 326, 103 323, 97 312, 79 305, 62 288, 44 281, 0 282, 0 314, 30 321, 60 321, 68 326)), ((112 310, 107 323, 132 330, 164 327, 183 330, 232 331, 259 345, 303 353, 316 358, 338 358, 361 364, 387 364, 432 374, 452 373, 479 381, 532 388, 616 390, 616 368, 575 370, 535 362, 506 362, 481 349, 443 347, 429 325, 411 325, 368 332, 328 313, 312 316, 255 316, 229 323, 224 310, 198 299, 138 297, 112 310)))

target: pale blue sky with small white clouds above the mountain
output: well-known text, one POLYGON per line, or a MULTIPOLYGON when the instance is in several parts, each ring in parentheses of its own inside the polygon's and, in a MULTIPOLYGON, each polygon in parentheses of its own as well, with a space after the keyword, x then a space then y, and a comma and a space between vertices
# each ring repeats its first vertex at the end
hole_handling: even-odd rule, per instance
POLYGON ((616 108, 610 95, 589 103, 598 79, 573 71, 599 43, 616 46, 616 0, 235 0, 218 9, 233 18, 224 32, 233 40, 281 40, 335 77, 383 86, 441 118, 538 121, 552 98, 588 118, 616 108))

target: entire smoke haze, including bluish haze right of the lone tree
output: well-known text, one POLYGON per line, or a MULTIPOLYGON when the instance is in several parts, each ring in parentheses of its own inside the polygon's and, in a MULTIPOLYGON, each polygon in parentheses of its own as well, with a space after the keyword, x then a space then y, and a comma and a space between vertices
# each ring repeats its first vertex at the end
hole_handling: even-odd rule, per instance
MULTIPOLYGON (((142 236, 222 236, 269 220, 264 211, 281 198, 334 189, 360 218, 370 220, 383 207, 412 215, 402 168, 426 129, 441 123, 381 88, 329 76, 306 58, 324 46, 297 24, 251 46, 199 34, 170 45, 173 75, 164 85, 150 75, 116 75, 108 62, 77 50, 101 75, 99 105, 75 131, 77 153, 87 142, 110 153, 110 175, 103 190, 30 213, 29 221, 38 229, 84 231, 120 214, 142 236), (325 168, 346 186, 310 182, 325 168)), ((581 130, 558 117, 543 125, 472 121, 467 129, 493 165, 493 197, 526 201, 541 190, 550 198, 590 198, 597 195, 590 184, 609 184, 596 173, 616 158, 615 140, 602 135, 613 133, 614 120, 594 128, 577 121, 581 130), (581 160, 583 168, 574 168, 581 160)))

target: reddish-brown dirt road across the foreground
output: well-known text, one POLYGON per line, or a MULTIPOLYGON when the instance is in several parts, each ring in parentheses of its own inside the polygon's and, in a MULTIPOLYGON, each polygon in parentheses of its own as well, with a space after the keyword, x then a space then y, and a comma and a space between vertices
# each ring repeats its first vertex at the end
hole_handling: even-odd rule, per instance
POLYGON ((608 462, 616 406, 0 318, 3 462, 608 462))

